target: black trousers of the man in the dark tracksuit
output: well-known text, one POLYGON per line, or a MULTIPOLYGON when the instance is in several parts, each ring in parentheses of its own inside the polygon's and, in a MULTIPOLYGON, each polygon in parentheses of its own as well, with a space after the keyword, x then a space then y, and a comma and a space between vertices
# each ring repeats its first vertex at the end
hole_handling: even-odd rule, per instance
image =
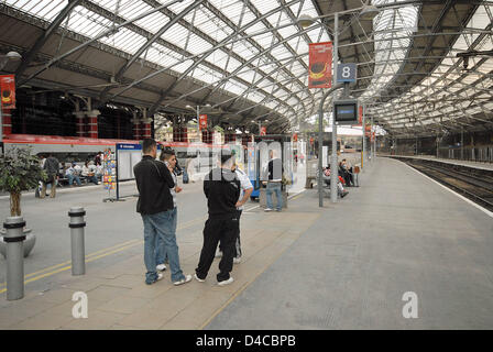
POLYGON ((234 241, 238 234, 238 217, 229 219, 209 218, 204 228, 204 245, 200 252, 200 260, 195 270, 198 278, 205 279, 212 265, 216 249, 219 241, 222 243, 222 257, 219 262, 218 282, 229 279, 229 273, 233 268, 234 241))

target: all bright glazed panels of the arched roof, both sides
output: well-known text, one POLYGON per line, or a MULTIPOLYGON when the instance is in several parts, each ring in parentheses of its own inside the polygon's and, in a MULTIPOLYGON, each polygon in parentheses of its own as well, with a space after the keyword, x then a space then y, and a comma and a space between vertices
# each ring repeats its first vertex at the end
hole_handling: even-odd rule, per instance
MULTIPOLYGON (((347 4, 347 0, 340 1, 347 4)), ((53 22, 68 3, 67 0, 1 2, 48 22, 53 22)), ((160 72, 201 84, 191 91, 175 92, 163 107, 184 105, 190 96, 206 95, 212 89, 212 92, 234 95, 216 102, 216 108, 226 108, 237 99, 245 98, 251 102, 250 107, 267 107, 273 114, 284 114, 296 123, 316 113, 324 94, 320 89, 307 89, 308 44, 330 41, 329 32, 321 22, 303 30, 295 21, 300 14, 319 16, 315 2, 83 0, 61 26, 155 64, 160 72), (131 21, 131 25, 122 26, 125 21, 131 21), (173 25, 162 33, 168 23, 173 25), (151 42, 154 35, 157 38, 151 42)), ((464 114, 473 119, 478 112, 491 113, 493 58, 470 57, 469 68, 464 70, 463 59, 456 56, 470 50, 492 50, 491 1, 483 1, 478 8, 464 32, 426 79, 398 98, 379 105, 373 101, 391 87, 408 58, 421 3, 407 0, 371 2, 396 7, 380 11, 373 20, 371 40, 375 55, 369 59, 374 64, 374 72, 371 84, 360 97, 370 113, 395 129, 424 129, 437 121, 456 121, 464 114), (398 6, 399 2, 403 4, 398 6)), ((152 77, 142 74, 130 86, 113 89, 111 98, 152 77)), ((248 108, 245 105, 243 109, 246 113, 248 108)))

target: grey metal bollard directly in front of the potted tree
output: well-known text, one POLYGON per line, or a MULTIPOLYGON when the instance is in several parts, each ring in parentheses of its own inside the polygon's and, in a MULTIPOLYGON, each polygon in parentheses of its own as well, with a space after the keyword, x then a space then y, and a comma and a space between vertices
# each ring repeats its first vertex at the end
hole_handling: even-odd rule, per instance
POLYGON ((24 297, 24 240, 23 228, 25 221, 22 217, 9 217, 3 227, 7 233, 7 299, 15 300, 24 297))

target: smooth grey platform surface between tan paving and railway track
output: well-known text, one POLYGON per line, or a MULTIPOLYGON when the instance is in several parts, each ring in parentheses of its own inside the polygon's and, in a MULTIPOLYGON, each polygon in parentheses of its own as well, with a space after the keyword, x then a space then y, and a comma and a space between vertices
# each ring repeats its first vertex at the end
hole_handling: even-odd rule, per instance
POLYGON ((491 216, 393 160, 350 190, 207 328, 493 328, 491 216))

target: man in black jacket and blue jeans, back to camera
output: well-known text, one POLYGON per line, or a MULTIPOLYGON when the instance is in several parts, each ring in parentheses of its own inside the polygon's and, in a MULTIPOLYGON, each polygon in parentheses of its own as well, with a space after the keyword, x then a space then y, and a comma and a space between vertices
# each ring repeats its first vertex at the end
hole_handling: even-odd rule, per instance
POLYGON ((175 187, 169 168, 155 160, 156 141, 145 139, 142 142, 142 160, 133 167, 139 190, 136 211, 144 223, 144 264, 145 284, 151 285, 163 278, 156 272, 156 238, 161 237, 169 258, 172 282, 182 285, 191 280, 191 275, 184 275, 179 267, 178 245, 176 244, 173 197, 169 188, 175 187))

